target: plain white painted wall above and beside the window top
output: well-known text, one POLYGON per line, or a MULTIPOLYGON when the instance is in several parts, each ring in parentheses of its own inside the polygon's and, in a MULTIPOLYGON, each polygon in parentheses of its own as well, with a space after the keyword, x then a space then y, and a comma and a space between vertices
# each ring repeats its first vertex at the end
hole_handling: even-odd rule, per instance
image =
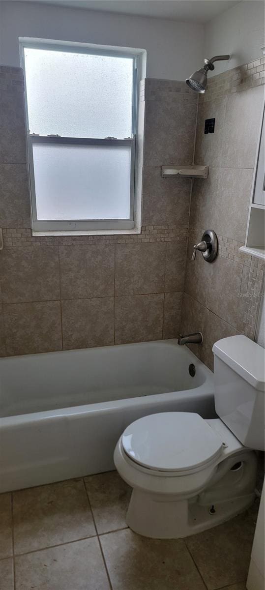
POLYGON ((33 2, 0 4, 0 63, 5 65, 19 65, 18 37, 145 49, 146 76, 152 78, 184 80, 202 60, 204 28, 200 24, 33 2))

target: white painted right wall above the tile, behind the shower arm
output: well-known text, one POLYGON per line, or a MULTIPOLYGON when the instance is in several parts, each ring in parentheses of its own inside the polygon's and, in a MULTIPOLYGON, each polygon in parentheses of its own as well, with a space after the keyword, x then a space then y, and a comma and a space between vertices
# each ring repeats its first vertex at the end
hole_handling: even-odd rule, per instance
POLYGON ((230 61, 215 64, 209 76, 261 57, 264 45, 264 2, 243 0, 205 25, 205 57, 230 54, 230 61))

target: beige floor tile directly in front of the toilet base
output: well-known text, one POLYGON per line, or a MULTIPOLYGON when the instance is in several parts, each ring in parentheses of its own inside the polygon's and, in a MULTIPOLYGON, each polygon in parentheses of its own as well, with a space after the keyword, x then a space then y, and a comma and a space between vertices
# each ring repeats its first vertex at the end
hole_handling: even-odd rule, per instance
POLYGON ((125 529, 100 541, 113 590, 204 590, 182 539, 147 539, 125 529))

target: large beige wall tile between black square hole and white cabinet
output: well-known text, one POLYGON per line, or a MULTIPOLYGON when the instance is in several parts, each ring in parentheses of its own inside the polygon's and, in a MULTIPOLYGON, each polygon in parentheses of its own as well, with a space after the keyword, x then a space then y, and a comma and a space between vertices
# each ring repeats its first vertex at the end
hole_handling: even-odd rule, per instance
POLYGON ((227 97, 220 166, 253 168, 262 101, 261 87, 230 94, 227 97))

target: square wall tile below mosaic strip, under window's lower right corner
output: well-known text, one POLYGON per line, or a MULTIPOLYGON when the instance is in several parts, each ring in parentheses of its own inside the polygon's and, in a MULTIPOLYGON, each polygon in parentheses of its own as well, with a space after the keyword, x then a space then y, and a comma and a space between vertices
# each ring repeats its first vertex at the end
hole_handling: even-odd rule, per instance
POLYGON ((161 293, 165 286, 166 244, 117 244, 115 293, 161 293))

